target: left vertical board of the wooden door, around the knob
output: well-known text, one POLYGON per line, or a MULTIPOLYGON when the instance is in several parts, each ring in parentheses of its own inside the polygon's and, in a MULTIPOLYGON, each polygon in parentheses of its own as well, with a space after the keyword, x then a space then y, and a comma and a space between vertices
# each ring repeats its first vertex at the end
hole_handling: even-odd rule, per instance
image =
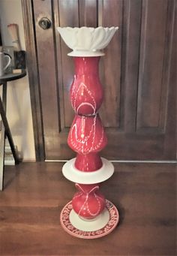
POLYGON ((52 140, 55 141, 55 133, 58 133, 58 92, 55 71, 55 43, 53 40, 53 27, 43 30, 39 26, 39 20, 48 17, 52 20, 52 5, 50 1, 43 2, 43 9, 39 2, 34 1, 34 22, 37 40, 37 59, 40 75, 40 97, 43 113, 43 135, 45 137, 46 152, 52 140), (42 41, 42 44, 40 43, 42 41))

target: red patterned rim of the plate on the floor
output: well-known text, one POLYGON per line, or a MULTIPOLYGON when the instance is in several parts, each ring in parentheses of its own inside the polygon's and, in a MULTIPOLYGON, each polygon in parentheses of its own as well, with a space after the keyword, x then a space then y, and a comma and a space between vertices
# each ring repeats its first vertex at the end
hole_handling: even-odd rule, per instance
MULTIPOLYGON (((77 229, 76 227, 73 226, 73 224, 71 224, 70 222, 70 225, 74 227, 75 230, 78 230, 79 233, 74 233, 72 232, 71 230, 68 229, 68 227, 65 226, 65 224, 63 223, 63 212, 65 211, 65 209, 68 207, 68 206, 72 206, 72 201, 68 202, 64 208, 62 209, 62 212, 60 214, 60 223, 63 227, 63 229, 69 233, 71 236, 75 236, 77 238, 82 238, 82 239, 96 239, 96 238, 100 238, 100 237, 103 237, 103 236, 107 236, 109 233, 111 233, 115 227, 118 225, 118 221, 119 221, 119 213, 118 213, 118 209, 115 207, 115 205, 110 201, 110 200, 106 200, 106 207, 110 213, 110 220, 107 222, 107 224, 102 227, 101 229, 98 229, 98 230, 95 230, 95 231, 83 231, 83 234, 80 234, 80 232, 82 232, 82 230, 79 230, 77 229), (109 226, 109 223, 111 221, 111 209, 114 209, 115 211, 115 214, 116 214, 116 220, 115 220, 115 223, 113 224, 113 227, 110 228, 110 230, 107 230, 107 232, 105 233, 100 233, 100 234, 97 234, 97 235, 93 235, 93 236, 88 236, 86 235, 86 233, 92 233, 92 232, 98 232, 99 230, 102 230, 103 228, 109 226)), ((68 219, 69 219, 69 215, 70 215, 70 212, 71 210, 73 209, 73 207, 71 207, 70 211, 68 212, 68 219)))

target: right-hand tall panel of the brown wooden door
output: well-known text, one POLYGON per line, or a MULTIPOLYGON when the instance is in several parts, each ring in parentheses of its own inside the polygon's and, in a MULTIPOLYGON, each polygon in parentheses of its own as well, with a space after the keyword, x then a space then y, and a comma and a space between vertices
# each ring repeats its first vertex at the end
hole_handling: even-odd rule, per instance
POLYGON ((137 128, 164 131, 171 45, 168 1, 142 1, 137 128), (161 102, 162 101, 162 102, 161 102), (163 107, 162 107, 163 106, 163 107), (162 108, 161 108, 162 107, 162 108))

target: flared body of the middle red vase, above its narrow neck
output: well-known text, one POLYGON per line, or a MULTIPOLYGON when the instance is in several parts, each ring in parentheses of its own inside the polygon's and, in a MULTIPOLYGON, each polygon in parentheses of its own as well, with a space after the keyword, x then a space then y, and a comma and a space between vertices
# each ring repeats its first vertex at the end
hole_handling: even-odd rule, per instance
POLYGON ((104 149, 107 145, 107 135, 100 116, 76 115, 68 135, 68 145, 81 155, 104 149))

